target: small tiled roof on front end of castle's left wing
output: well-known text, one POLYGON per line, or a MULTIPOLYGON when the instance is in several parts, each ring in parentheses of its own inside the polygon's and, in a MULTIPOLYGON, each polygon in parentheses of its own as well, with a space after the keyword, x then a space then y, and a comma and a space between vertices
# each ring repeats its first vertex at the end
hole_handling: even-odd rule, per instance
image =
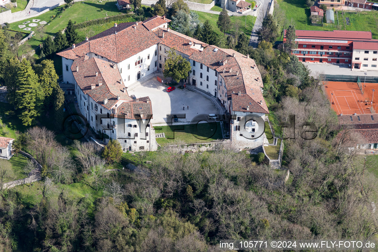
POLYGON ((148 96, 139 98, 139 101, 123 102, 117 108, 115 117, 125 119, 152 119, 152 104, 148 96), (147 102, 147 100, 149 102, 147 102), (141 117, 141 115, 143 115, 141 117))

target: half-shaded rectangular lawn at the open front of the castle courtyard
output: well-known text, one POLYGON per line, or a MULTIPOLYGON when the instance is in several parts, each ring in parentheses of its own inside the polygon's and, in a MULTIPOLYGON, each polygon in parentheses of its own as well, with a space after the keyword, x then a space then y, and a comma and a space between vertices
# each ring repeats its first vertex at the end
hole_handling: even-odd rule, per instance
POLYGON ((166 138, 156 138, 156 141, 159 144, 168 144, 174 142, 206 142, 222 139, 220 123, 217 122, 216 125, 216 128, 211 128, 211 125, 207 123, 156 126, 154 127, 155 132, 164 132, 166 136, 166 138), (184 128, 184 130, 182 130, 182 128, 184 128))

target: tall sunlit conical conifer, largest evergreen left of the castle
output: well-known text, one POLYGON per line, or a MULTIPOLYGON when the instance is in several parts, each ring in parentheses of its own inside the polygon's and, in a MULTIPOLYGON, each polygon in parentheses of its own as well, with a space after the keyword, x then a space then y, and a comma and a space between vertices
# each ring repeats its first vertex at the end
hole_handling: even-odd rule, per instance
POLYGON ((16 86, 15 105, 17 109, 21 110, 19 118, 23 125, 32 125, 36 117, 40 116, 44 94, 36 73, 26 59, 22 59, 20 62, 16 86))

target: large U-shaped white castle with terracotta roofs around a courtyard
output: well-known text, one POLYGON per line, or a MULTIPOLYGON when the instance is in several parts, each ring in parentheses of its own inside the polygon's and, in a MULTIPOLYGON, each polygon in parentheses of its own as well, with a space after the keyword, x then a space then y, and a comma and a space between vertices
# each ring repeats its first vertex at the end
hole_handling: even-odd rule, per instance
MULTIPOLYGON (((263 144, 265 114, 262 78, 253 59, 232 49, 208 45, 168 28, 156 15, 114 27, 60 53, 64 82, 75 84, 81 113, 95 131, 118 139, 124 150, 156 150, 149 97, 130 97, 127 87, 164 71, 170 49, 191 63, 187 84, 217 97, 229 114, 236 146, 263 144)), ((169 111, 167 111, 169 113, 169 111)))

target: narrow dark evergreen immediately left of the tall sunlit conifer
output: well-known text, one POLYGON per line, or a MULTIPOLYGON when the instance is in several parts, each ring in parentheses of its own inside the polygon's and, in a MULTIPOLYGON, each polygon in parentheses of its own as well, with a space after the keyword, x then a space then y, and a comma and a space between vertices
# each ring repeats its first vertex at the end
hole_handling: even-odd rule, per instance
POLYGON ((3 71, 3 79, 5 86, 7 86, 8 94, 7 99, 8 102, 12 105, 15 105, 16 100, 16 91, 18 89, 16 85, 16 76, 17 71, 19 70, 20 62, 16 58, 8 59, 5 63, 4 71, 3 71))

